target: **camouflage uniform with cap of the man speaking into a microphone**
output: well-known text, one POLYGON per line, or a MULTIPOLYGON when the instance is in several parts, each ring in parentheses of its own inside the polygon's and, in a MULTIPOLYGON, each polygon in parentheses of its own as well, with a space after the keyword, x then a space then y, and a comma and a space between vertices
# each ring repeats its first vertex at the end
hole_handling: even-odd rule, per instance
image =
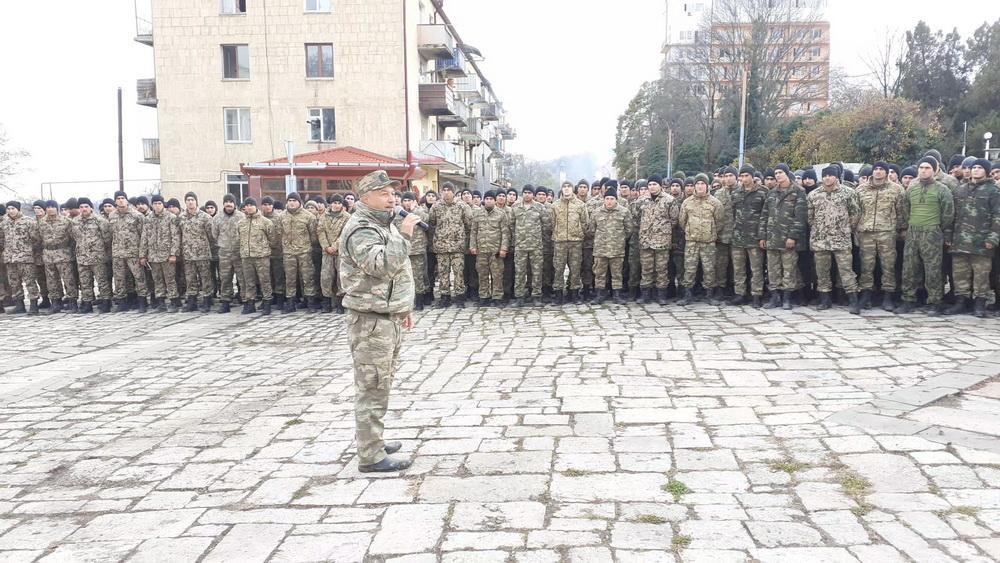
MULTIPOLYGON (((384 172, 373 174, 381 174, 388 183, 384 172)), ((358 182, 361 193, 367 178, 358 182)), ((401 323, 414 299, 410 242, 392 226, 392 218, 392 213, 358 202, 340 235, 340 286, 349 310, 347 341, 354 360, 359 465, 386 457, 382 417, 403 343, 401 323)))

